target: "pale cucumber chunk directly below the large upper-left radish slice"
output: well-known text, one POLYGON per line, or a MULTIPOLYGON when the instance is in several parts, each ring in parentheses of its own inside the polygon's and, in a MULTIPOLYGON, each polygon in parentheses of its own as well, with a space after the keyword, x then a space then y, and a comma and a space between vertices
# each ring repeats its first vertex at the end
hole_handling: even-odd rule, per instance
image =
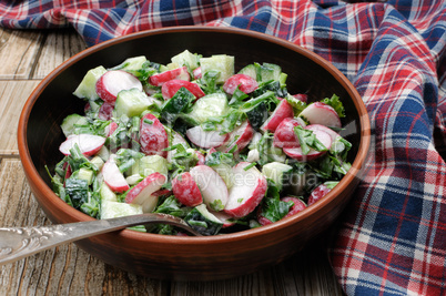
POLYGON ((123 90, 118 93, 113 112, 116 118, 140 116, 153 103, 152 99, 138 89, 123 90))

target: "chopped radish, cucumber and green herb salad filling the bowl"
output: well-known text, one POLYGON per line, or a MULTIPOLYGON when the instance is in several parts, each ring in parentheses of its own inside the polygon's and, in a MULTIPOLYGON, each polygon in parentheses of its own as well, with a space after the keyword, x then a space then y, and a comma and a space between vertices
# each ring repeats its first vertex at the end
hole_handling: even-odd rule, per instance
POLYGON ((339 98, 310 103, 288 93, 280 65, 234 64, 185 50, 169 64, 134 57, 88 71, 73 92, 84 114, 61 123, 55 194, 95 218, 164 213, 204 235, 267 225, 323 198, 351 166, 339 98))

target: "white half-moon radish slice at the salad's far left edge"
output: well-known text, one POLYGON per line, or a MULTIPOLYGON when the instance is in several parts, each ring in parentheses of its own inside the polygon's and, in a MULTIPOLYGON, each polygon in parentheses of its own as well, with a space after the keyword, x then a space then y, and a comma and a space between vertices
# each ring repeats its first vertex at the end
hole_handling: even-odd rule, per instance
POLYGON ((105 137, 94 134, 73 134, 60 144, 59 151, 64 155, 70 155, 70 150, 78 144, 82 154, 91 156, 97 154, 105 143, 105 137))

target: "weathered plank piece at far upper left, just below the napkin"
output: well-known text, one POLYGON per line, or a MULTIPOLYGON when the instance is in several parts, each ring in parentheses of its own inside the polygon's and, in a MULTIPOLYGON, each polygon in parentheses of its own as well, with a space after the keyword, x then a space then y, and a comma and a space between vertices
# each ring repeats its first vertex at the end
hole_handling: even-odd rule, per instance
POLYGON ((0 28, 0 80, 29 79, 42 38, 40 31, 0 28))

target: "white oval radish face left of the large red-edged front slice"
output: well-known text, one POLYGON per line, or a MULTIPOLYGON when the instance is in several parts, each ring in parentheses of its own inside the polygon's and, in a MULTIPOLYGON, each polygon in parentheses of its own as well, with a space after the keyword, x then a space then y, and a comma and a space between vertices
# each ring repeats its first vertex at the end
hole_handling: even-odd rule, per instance
POLYGON ((196 165, 190 171, 200 186, 203 202, 214 211, 221 211, 227 203, 227 187, 223 178, 207 165, 196 165))

